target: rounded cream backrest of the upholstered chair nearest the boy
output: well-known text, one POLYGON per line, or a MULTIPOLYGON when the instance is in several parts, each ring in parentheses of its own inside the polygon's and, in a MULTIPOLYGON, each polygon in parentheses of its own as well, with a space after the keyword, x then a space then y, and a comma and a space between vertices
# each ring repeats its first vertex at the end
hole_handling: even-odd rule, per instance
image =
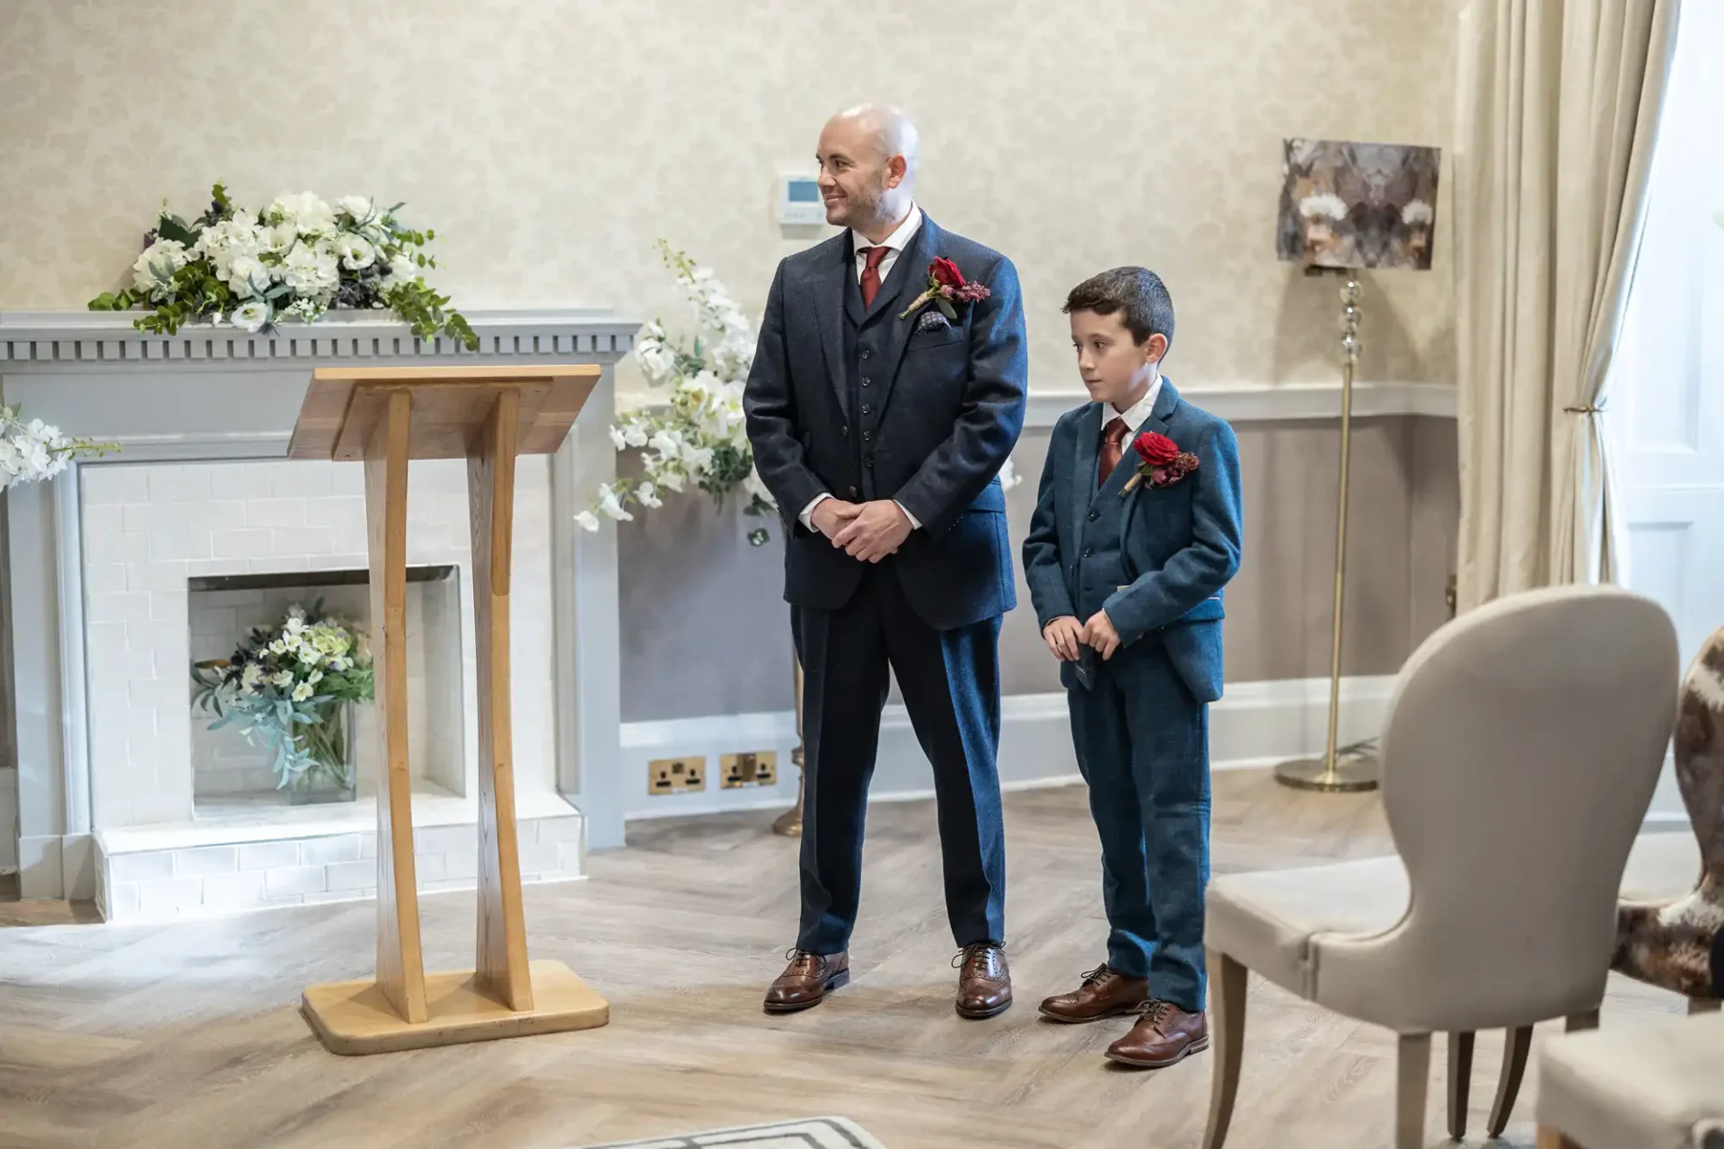
POLYGON ((1617 885, 1671 741, 1677 670, 1664 610, 1596 586, 1481 606, 1402 668, 1383 801, 1412 908, 1384 942, 1440 972, 1479 1028, 1603 996, 1617 885))

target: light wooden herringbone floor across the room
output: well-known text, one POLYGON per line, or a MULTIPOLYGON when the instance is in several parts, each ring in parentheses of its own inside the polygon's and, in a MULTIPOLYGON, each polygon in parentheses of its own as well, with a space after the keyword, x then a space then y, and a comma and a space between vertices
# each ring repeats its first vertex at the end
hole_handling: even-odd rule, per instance
MULTIPOLYGON (((610 997, 612 1023, 586 1034, 324 1053, 295 1009, 298 992, 371 972, 369 903, 172 927, 26 918, 0 930, 0 1146, 559 1147, 828 1113, 888 1149, 1198 1144, 1209 1056, 1115 1071, 1100 1054, 1124 1023, 1036 1020, 1034 1003, 1102 953, 1083 791, 1007 799, 1019 1004, 979 1023, 952 1011, 926 803, 872 811, 855 984, 812 1013, 762 1015, 796 916, 795 842, 771 837, 769 822, 643 823, 628 849, 591 860, 590 882, 528 889, 533 954, 567 961, 610 997)), ((1386 849, 1372 796, 1217 777, 1217 872, 1386 849)), ((422 906, 429 968, 471 965, 472 896, 422 906)), ((21 916, 0 910, 14 911, 0 920, 21 916)), ((1671 996, 1614 982, 1603 1025, 1677 1011, 1671 996)), ((1500 1035, 1481 1035, 1469 1146, 1486 1144, 1500 1047, 1500 1035)), ((1448 1146, 1441 1042, 1433 1065, 1429 1144, 1448 1146)), ((1253 980, 1229 1146, 1377 1149, 1390 1140, 1393 1084, 1386 1032, 1253 980)), ((1534 1092, 1529 1075, 1510 1146, 1533 1142, 1534 1092)))

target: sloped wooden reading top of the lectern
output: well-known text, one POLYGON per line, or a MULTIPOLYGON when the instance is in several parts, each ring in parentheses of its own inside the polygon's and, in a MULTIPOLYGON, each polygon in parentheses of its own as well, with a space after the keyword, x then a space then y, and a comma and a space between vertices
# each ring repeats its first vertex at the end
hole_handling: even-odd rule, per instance
POLYGON ((502 391, 519 400, 517 453, 550 455, 598 382, 597 363, 519 367, 319 367, 300 405, 288 458, 365 458, 390 394, 412 394, 412 458, 465 458, 502 391))

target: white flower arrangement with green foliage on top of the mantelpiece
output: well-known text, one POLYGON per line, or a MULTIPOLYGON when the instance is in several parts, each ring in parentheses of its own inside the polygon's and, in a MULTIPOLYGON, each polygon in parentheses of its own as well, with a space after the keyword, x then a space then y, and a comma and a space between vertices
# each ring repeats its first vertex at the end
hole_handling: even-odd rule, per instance
POLYGON ((222 184, 210 196, 190 224, 164 205, 131 267, 131 286, 103 291, 90 310, 147 307, 133 326, 174 334, 193 320, 255 332, 283 320, 310 324, 329 308, 386 308, 421 339, 447 334, 478 350, 467 320, 421 276, 436 267, 424 252, 436 233, 397 220, 400 203, 379 208, 350 195, 331 207, 302 191, 252 212, 234 207, 222 184))

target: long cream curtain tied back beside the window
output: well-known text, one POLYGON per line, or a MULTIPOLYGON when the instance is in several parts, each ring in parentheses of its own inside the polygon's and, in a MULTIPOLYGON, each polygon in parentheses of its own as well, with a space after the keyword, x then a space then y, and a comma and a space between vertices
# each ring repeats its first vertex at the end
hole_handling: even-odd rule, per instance
POLYGON ((1619 574, 1602 420, 1679 2, 1474 0, 1462 17, 1462 610, 1619 574))

